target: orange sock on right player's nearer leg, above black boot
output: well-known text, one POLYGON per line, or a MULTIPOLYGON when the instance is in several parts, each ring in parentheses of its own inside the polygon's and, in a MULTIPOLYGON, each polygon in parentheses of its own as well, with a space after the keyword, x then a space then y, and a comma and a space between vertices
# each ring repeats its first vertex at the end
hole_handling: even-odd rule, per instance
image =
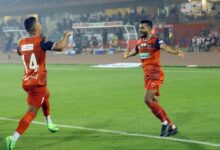
POLYGON ((164 122, 166 120, 166 118, 165 118, 165 116, 163 114, 162 108, 161 108, 161 106, 158 103, 156 103, 154 101, 151 101, 147 105, 151 109, 152 113, 158 119, 160 119, 161 122, 164 122))

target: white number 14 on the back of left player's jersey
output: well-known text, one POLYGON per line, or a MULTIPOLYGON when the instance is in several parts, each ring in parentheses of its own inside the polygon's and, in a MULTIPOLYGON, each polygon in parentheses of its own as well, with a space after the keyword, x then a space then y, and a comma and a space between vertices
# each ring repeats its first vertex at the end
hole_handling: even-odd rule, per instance
POLYGON ((25 62, 24 55, 22 55, 22 60, 23 60, 24 66, 25 66, 26 73, 28 73, 29 70, 34 70, 35 72, 37 72, 39 65, 37 64, 37 60, 36 60, 34 53, 31 54, 30 63, 28 65, 28 67, 25 62))

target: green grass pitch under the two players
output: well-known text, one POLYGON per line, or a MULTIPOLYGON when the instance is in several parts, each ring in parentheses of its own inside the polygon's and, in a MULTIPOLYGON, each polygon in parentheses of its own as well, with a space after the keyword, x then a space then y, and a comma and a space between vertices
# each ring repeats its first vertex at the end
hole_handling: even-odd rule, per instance
MULTIPOLYGON (((87 65, 48 65, 51 112, 56 124, 159 135, 160 122, 143 102, 141 68, 101 69, 87 65)), ((0 118, 20 119, 26 112, 21 88, 23 66, 0 65, 0 118)), ((15 150, 216 150, 220 147, 220 68, 164 67, 161 105, 178 126, 181 141, 60 127, 51 134, 32 124, 15 150)), ((44 122, 42 112, 37 118, 44 122)), ((0 149, 17 127, 0 119, 0 149)))

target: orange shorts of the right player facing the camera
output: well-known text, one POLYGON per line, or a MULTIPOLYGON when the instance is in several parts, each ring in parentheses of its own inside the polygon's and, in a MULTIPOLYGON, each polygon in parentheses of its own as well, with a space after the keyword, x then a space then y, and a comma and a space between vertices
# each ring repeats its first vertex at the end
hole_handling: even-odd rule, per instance
POLYGON ((163 83, 161 80, 148 79, 144 81, 145 90, 157 90, 156 96, 160 96, 160 85, 163 83))

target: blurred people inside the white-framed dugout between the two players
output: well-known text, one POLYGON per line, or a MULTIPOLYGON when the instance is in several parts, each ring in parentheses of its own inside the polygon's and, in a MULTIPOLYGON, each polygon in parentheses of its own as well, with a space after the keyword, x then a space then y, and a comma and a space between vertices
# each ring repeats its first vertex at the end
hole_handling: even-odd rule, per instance
POLYGON ((73 50, 78 53, 94 54, 97 50, 111 49, 112 51, 121 50, 126 47, 126 40, 120 29, 109 33, 107 29, 98 29, 96 34, 86 34, 83 30, 75 30, 73 34, 73 50))

